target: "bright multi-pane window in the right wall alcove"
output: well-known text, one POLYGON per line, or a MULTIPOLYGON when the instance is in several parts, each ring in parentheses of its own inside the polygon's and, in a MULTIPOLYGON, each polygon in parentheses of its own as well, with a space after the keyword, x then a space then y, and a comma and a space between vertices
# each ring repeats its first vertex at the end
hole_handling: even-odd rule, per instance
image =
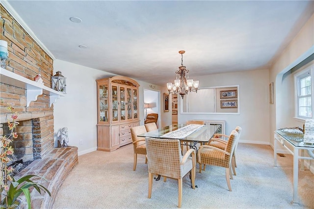
POLYGON ((313 68, 314 65, 306 68, 295 76, 296 80, 296 117, 309 119, 313 118, 313 68))

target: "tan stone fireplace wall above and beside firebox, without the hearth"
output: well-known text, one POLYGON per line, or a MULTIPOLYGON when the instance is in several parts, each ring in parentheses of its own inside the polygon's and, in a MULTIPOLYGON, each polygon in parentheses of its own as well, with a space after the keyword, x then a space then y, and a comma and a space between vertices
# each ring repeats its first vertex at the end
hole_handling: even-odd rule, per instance
MULTIPOLYGON (((6 70, 33 80, 40 74, 44 84, 51 87, 53 74, 52 58, 26 33, 26 31, 13 19, 13 17, 0 5, 0 39, 8 42, 9 58, 6 61, 6 70)), ((0 123, 10 118, 7 103, 14 103, 14 111, 19 114, 18 120, 38 118, 40 130, 41 157, 45 156, 54 147, 53 139, 53 107, 49 107, 49 93, 38 96, 38 99, 26 107, 26 90, 7 85, 0 81, 0 123)), ((2 130, 0 130, 2 134, 2 130)))

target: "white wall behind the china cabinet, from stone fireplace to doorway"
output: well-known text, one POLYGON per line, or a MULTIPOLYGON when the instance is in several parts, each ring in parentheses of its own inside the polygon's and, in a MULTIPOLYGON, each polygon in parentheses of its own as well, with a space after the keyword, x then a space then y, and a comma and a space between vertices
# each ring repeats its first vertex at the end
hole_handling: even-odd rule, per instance
MULTIPOLYGON (((70 146, 78 147, 78 155, 97 150, 97 83, 96 79, 115 76, 93 68, 62 60, 54 60, 53 73, 61 71, 66 77, 66 95, 53 104, 54 135, 62 127, 69 131, 70 146), (82 144, 79 141, 82 140, 82 144)), ((150 89, 150 83, 136 80, 139 84, 139 119, 144 124, 144 88, 150 89)), ((166 88, 156 85, 154 90, 165 92, 166 88)), ((161 99, 159 101, 162 102, 161 99)), ((161 104, 157 104, 161 105, 161 104)), ((171 123, 171 114, 163 114, 161 126, 171 123), (167 119, 169 117, 169 119, 167 119)))

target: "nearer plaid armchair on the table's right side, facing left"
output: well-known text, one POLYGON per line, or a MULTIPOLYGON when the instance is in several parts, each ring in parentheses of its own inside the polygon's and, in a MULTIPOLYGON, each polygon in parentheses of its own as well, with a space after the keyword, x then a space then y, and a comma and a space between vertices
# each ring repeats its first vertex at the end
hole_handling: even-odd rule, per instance
POLYGON ((202 173, 202 164, 225 167, 226 180, 229 191, 231 191, 230 178, 232 178, 230 170, 231 159, 238 139, 238 132, 233 130, 228 138, 228 142, 224 150, 209 145, 202 145, 198 150, 198 163, 200 164, 200 173, 202 173))

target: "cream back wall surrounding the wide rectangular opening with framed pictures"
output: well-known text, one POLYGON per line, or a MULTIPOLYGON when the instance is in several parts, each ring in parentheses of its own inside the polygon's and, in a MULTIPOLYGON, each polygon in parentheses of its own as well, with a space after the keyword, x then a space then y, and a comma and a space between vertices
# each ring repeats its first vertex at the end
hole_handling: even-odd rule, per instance
MULTIPOLYGON (((238 108, 240 108, 240 114, 178 113, 178 123, 192 119, 224 120, 226 121, 226 134, 229 134, 236 126, 242 127, 240 142, 269 144, 268 77, 268 70, 256 70, 195 78, 200 80, 200 87, 239 85, 238 108)), ((178 100, 182 99, 178 97, 178 100)))

